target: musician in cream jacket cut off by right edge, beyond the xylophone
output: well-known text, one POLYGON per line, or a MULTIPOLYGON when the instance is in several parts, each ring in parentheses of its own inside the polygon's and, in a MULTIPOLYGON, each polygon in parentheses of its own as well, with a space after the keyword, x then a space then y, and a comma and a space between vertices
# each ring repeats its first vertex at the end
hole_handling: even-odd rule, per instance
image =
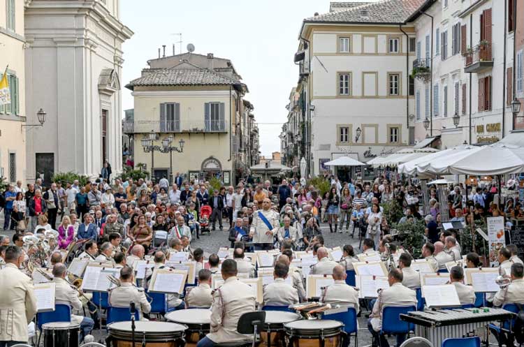
MULTIPOLYGON (((504 304, 524 304, 524 266, 520 263, 511 265, 511 283, 506 288, 500 288, 493 297, 493 306, 502 307, 504 304)), ((499 344, 507 347, 514 346, 514 335, 509 332, 497 332, 490 328, 499 344)))

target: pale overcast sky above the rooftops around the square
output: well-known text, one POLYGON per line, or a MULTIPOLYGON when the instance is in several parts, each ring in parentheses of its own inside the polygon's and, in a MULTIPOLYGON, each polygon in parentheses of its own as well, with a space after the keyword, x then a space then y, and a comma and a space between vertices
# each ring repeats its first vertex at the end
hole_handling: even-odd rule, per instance
MULTIPOLYGON (((123 84, 140 77, 147 59, 158 57, 161 45, 173 54, 173 43, 179 41, 173 34, 182 33, 182 52, 193 43, 196 53, 212 52, 233 61, 249 88, 245 98, 255 107, 262 154, 280 150, 278 135, 286 121, 287 98, 298 81, 293 64, 298 31, 303 18, 328 12, 329 1, 124 0, 121 7, 122 22, 135 32, 123 47, 123 84)), ((133 108, 129 89, 122 89, 122 98, 123 110, 133 108)))

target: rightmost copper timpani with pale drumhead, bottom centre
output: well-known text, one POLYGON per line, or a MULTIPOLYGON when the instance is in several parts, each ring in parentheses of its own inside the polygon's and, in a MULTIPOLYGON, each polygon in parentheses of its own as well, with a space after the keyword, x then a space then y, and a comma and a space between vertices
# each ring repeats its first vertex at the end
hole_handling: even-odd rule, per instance
POLYGON ((285 323, 284 330, 289 336, 289 346, 335 347, 340 346, 342 341, 343 326, 337 320, 296 320, 285 323))

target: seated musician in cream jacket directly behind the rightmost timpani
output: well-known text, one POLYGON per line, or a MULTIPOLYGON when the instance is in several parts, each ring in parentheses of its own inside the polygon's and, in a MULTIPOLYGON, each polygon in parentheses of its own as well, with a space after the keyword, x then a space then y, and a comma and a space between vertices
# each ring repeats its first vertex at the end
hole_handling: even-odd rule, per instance
POLYGON ((358 313, 358 292, 355 288, 346 284, 346 270, 342 265, 333 267, 333 279, 335 283, 322 290, 320 301, 330 304, 332 307, 354 307, 358 313))

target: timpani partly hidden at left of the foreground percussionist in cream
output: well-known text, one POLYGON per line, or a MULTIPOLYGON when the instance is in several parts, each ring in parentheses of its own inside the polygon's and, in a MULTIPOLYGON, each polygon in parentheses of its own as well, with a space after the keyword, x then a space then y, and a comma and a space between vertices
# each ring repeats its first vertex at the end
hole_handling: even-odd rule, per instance
POLYGON ((210 331, 210 309, 184 309, 171 311, 166 313, 164 317, 166 317, 170 322, 187 325, 187 346, 196 346, 197 342, 203 339, 210 331))

